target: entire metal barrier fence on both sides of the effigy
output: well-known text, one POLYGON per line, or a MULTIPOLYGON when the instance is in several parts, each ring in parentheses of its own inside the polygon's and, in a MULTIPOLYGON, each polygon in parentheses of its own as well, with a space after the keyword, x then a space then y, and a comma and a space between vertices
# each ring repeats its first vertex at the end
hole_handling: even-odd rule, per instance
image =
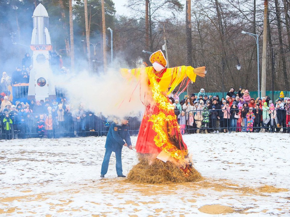
MULTIPOLYGON (((242 109, 210 109, 192 110, 183 117, 176 112, 176 118, 180 123, 181 118, 185 118, 185 126, 181 127, 182 134, 192 134, 199 132, 289 132, 290 115, 286 115, 285 110, 274 110, 271 114, 264 114, 262 109, 253 109, 252 113, 242 109), (191 114, 190 114, 191 113, 191 114), (264 117, 264 119, 263 119, 264 117), (286 123, 288 121, 288 124, 286 123), (244 124, 243 124, 244 123, 244 124)), ((264 112, 265 113, 265 112, 264 112)), ((11 115, 12 124, 10 129, 4 127, 5 115, 0 115, 1 139, 31 138, 31 137, 75 137, 75 136, 103 136, 107 135, 110 123, 105 117, 95 116, 93 113, 83 113, 79 118, 70 112, 56 117, 53 114, 51 119, 47 114, 18 113, 11 115), (43 118, 40 119, 40 116, 43 118)), ((131 135, 139 132, 139 118, 131 118, 129 121, 129 131, 131 135)))

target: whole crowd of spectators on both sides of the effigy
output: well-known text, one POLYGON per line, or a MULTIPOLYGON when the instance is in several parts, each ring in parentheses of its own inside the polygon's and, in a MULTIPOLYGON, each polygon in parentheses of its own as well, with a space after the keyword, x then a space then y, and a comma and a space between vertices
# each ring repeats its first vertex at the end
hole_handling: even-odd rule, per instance
MULTIPOLYGON (((93 112, 85 111, 82 105, 71 108, 65 97, 59 98, 59 101, 46 98, 41 101, 16 101, 12 104, 9 101, 9 86, 29 82, 32 66, 25 66, 30 63, 30 56, 27 53, 22 60, 22 68, 18 67, 11 77, 6 72, 2 74, 0 90, 2 139, 77 137, 97 135, 96 131, 99 135, 100 129, 104 131, 108 129, 110 123, 104 117, 99 120, 93 112)), ((66 73, 63 66, 60 71, 66 73)), ((182 100, 179 99, 178 93, 173 92, 169 99, 174 105, 182 134, 290 132, 290 98, 284 97, 283 92, 275 101, 269 96, 253 99, 248 90, 241 88, 237 92, 231 88, 225 98, 208 96, 205 90, 201 89, 198 94, 185 95, 182 100)), ((138 124, 140 122, 135 121, 135 131, 138 130, 138 124)))

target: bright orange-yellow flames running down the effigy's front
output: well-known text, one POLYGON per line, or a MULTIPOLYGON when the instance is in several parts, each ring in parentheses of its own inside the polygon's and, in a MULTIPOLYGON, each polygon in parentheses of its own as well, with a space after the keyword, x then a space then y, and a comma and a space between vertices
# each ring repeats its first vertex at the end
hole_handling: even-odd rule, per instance
POLYGON ((188 155, 188 151, 185 149, 178 149, 179 144, 174 144, 172 140, 169 139, 169 136, 172 136, 170 133, 174 130, 174 126, 180 126, 177 123, 176 115, 174 114, 174 105, 169 102, 165 93, 160 91, 160 86, 156 81, 156 75, 152 71, 148 71, 148 78, 150 81, 152 98, 157 102, 159 108, 159 113, 154 114, 149 118, 149 121, 153 123, 153 130, 157 133, 154 137, 154 142, 156 146, 161 147, 166 153, 169 153, 170 156, 175 159, 176 162, 185 159, 188 155), (170 124, 168 124, 170 123, 170 124))

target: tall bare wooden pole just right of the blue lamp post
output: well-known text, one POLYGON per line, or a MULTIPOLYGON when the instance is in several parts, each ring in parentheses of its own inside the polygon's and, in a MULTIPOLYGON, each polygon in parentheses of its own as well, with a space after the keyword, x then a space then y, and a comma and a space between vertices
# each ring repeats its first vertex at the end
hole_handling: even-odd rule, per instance
POLYGON ((266 60, 267 60, 267 11, 268 0, 264 2, 264 28, 263 28, 263 56, 262 56, 262 82, 261 82, 261 96, 266 96, 266 60))

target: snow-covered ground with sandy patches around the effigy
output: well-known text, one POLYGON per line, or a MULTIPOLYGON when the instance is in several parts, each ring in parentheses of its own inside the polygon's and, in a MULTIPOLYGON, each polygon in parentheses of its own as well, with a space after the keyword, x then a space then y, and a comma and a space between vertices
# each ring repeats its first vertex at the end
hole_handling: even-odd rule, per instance
POLYGON ((101 179, 105 139, 0 140, 1 216, 290 216, 289 134, 185 135, 205 180, 171 185, 117 178, 114 154, 101 179))

